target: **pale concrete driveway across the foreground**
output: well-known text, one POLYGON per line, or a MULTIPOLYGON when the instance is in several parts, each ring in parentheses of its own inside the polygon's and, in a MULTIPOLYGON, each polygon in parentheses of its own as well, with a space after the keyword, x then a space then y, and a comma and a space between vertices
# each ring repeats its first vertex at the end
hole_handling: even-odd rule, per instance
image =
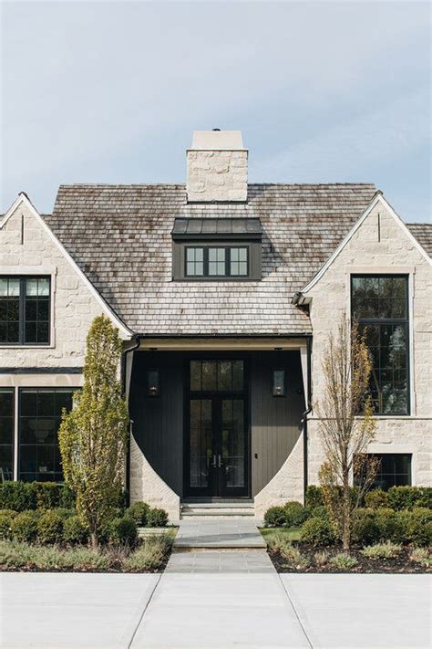
POLYGON ((7 647, 427 647, 427 575, 0 575, 7 647))

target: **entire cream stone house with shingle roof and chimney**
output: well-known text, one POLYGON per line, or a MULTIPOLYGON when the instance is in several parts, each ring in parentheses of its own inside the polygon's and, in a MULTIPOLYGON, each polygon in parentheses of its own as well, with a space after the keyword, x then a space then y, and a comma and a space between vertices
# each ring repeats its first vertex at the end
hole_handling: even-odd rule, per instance
MULTIPOLYGON (((125 341, 132 500, 303 500, 341 317, 372 331, 379 484, 431 484, 432 225, 369 183, 248 184, 239 131, 198 131, 186 185, 60 186, 0 217, 0 479, 61 480, 61 407, 91 320, 125 341)), ((371 335, 372 335, 371 334, 371 335)))

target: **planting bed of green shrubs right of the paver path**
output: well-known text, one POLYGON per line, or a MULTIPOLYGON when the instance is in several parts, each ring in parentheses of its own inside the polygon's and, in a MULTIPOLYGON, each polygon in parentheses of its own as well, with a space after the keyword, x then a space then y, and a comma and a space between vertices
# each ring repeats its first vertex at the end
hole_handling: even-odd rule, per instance
POLYGON ((308 487, 305 507, 289 502, 268 509, 261 532, 279 572, 431 572, 431 496, 428 487, 366 493, 352 513, 349 552, 320 487, 308 487))

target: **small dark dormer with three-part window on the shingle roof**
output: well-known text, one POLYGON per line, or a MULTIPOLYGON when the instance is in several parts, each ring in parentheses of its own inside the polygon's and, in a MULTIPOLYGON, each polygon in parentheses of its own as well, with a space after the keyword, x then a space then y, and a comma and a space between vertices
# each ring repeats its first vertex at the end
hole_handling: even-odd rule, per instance
POLYGON ((261 279, 259 219, 176 219, 173 279, 261 279))

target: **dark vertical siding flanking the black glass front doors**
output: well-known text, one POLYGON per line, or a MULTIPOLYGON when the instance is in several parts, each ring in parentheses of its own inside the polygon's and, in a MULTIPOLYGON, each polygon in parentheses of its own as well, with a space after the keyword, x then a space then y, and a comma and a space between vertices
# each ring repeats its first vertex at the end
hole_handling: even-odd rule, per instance
MULTIPOLYGON (((182 496, 183 393, 190 354, 140 351, 134 356, 129 403, 135 439, 159 476, 182 496), (149 368, 159 368, 159 397, 147 396, 149 368)), ((257 351, 245 357, 250 359, 251 372, 250 462, 255 496, 283 465, 300 435, 303 382, 298 351, 257 351), (273 368, 280 367, 285 368, 287 395, 273 397, 273 368)))

